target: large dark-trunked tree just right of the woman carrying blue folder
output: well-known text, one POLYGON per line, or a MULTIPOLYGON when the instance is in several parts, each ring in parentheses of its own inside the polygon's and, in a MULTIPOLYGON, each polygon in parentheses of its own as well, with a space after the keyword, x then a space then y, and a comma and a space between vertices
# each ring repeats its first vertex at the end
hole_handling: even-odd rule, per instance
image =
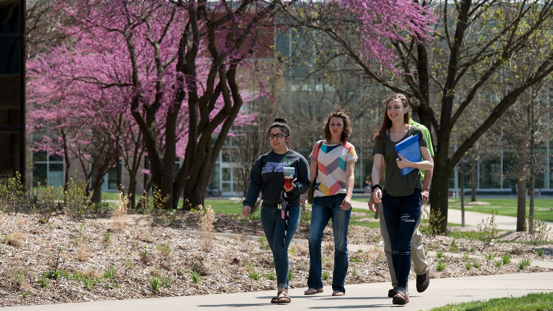
POLYGON ((316 7, 317 14, 299 15, 292 24, 324 34, 320 38, 326 50, 319 50, 318 64, 347 59, 354 67, 350 73, 368 77, 390 93, 405 94, 419 121, 434 128, 437 150, 430 199, 436 217, 431 225, 446 232, 453 169, 520 94, 553 71, 553 1, 338 2, 331 9, 316 7), (494 107, 482 112, 484 121, 453 148, 452 133, 463 127, 464 112, 476 106, 474 99, 492 95, 500 72, 515 69, 512 60, 524 49, 539 57, 538 63, 528 65, 532 74, 491 101, 494 107))

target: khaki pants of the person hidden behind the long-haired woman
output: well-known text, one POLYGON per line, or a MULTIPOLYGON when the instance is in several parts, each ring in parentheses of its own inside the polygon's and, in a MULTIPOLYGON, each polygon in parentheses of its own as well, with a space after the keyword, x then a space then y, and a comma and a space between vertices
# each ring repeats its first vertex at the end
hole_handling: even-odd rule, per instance
MULTIPOLYGON (((413 260, 413 267, 415 273, 425 274, 429 270, 426 256, 424 255, 424 248, 422 247, 422 235, 419 231, 419 222, 416 224, 416 230, 411 239, 411 260, 413 260)), ((390 277, 392 277, 392 287, 398 286, 398 280, 395 278, 394 266, 392 264, 392 248, 390 247, 390 237, 388 236, 388 230, 386 229, 386 222, 384 221, 384 215, 382 213, 382 203, 378 204, 378 219, 380 220, 380 232, 384 240, 384 253, 386 254, 386 261, 388 262, 388 269, 390 270, 390 277)))

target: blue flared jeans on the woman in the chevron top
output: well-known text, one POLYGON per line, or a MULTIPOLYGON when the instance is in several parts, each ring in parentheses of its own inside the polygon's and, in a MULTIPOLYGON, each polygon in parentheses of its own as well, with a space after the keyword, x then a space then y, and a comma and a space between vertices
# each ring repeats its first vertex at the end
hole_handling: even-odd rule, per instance
POLYGON ((311 229, 309 230, 309 277, 307 287, 322 288, 321 281, 321 241, 322 232, 325 230, 328 220, 332 219, 334 231, 334 272, 332 273, 332 291, 346 293, 344 284, 348 268, 347 258, 347 230, 351 208, 340 208, 345 193, 316 196, 313 198, 311 211, 311 229))

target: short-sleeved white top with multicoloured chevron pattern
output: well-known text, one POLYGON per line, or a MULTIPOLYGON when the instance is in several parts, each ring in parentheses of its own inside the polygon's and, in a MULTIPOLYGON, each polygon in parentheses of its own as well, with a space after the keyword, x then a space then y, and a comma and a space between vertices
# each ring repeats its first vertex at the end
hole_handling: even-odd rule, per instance
POLYGON ((317 175, 314 196, 335 195, 346 193, 346 162, 355 160, 357 154, 351 143, 341 144, 322 143, 319 150, 318 141, 309 155, 317 161, 319 173, 317 175))

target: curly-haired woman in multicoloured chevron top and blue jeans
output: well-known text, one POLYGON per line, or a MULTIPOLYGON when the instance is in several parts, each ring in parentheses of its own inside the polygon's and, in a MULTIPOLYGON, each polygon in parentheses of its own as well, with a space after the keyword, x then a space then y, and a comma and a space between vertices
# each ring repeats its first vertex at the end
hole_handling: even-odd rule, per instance
MULTIPOLYGON (((355 148, 348 142, 351 134, 348 114, 340 109, 328 115, 323 128, 325 139, 315 143, 309 155, 311 181, 316 185, 309 231, 309 289, 304 292, 306 295, 322 292, 321 240, 322 232, 330 219, 334 232, 332 296, 346 294, 344 284, 348 268, 347 231, 351 217, 353 168, 357 161, 355 148)), ((305 195, 301 204, 305 204, 305 195)))

